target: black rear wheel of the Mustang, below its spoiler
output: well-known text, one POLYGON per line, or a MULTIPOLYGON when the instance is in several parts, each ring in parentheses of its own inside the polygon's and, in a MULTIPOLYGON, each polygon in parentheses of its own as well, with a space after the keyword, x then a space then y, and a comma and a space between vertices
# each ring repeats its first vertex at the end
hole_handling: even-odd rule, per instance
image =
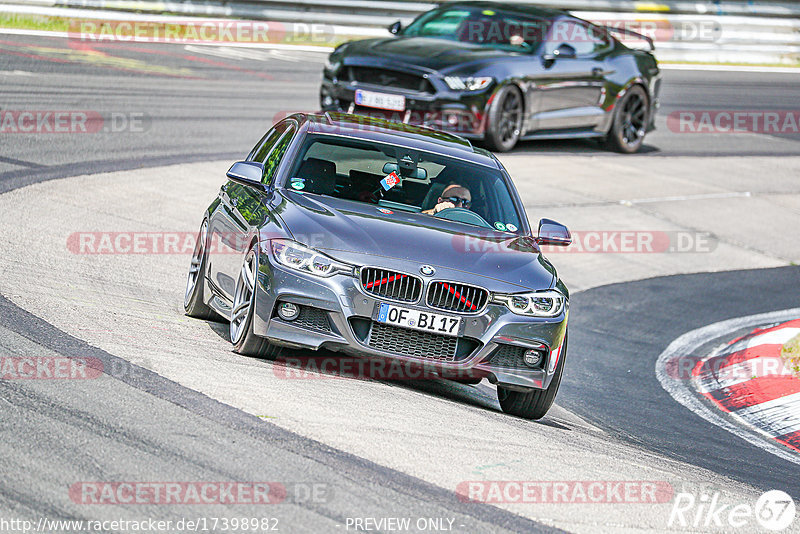
POLYGON ((649 118, 647 93, 634 85, 617 102, 614 119, 602 145, 615 152, 633 154, 644 144, 649 118))

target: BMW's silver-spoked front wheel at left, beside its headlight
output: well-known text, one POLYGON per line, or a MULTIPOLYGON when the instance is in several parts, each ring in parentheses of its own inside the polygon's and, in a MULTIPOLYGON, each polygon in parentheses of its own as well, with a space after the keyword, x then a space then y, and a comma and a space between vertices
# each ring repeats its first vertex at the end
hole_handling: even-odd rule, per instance
POLYGON ((258 245, 256 244, 245 255, 239 279, 236 281, 230 317, 231 343, 233 350, 239 354, 274 360, 280 355, 282 347, 275 346, 253 333, 257 277, 258 245), (247 277, 248 273, 251 276, 247 277))

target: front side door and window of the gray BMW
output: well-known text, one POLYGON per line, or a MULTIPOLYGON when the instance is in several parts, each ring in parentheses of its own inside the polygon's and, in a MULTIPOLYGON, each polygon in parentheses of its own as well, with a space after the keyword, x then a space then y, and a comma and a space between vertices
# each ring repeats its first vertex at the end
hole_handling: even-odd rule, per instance
MULTIPOLYGON (((286 148, 296 132, 294 122, 283 122, 267 132, 248 156, 264 163, 262 182, 270 184, 286 148)), ((211 246, 208 273, 211 285, 229 304, 233 301, 236 280, 247 253, 252 229, 265 220, 263 194, 252 187, 229 180, 219 191, 219 205, 209 222, 211 246)))

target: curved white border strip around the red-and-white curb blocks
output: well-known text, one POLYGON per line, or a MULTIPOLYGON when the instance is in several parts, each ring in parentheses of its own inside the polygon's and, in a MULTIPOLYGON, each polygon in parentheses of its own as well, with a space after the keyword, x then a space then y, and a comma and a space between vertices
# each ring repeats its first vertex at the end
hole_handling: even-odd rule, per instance
MULTIPOLYGON (((678 339, 674 340, 666 348, 664 352, 656 360, 656 378, 661 383, 661 387, 669 393, 673 399, 680 404, 694 412, 696 415, 702 417, 709 423, 724 428, 728 432, 742 438, 748 443, 755 445, 779 458, 786 461, 800 465, 800 455, 796 452, 789 450, 783 445, 773 443, 761 439, 757 434, 762 436, 772 437, 766 432, 757 428, 751 430, 745 429, 738 425, 733 424, 727 418, 722 417, 721 412, 716 413, 708 406, 703 404, 695 394, 688 389, 684 381, 676 380, 667 374, 667 362, 673 358, 691 354, 699 346, 707 343, 709 340, 716 339, 724 336, 728 332, 736 331, 740 328, 748 326, 756 326, 770 322, 788 321, 796 319, 800 315, 800 308, 793 308, 790 310, 783 310, 770 313, 761 313, 758 315, 750 315, 748 317, 738 317, 736 319, 729 319, 718 323, 710 324, 691 332, 686 332, 678 339)), ((750 427, 748 425, 748 427, 750 427)))

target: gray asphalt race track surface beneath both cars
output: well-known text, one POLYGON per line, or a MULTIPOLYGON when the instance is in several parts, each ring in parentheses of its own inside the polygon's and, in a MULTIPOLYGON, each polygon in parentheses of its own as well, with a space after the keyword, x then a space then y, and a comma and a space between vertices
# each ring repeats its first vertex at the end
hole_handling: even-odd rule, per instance
POLYGON ((660 254, 552 256, 575 291, 570 349, 557 406, 536 423, 500 413, 488 384, 281 378, 277 364, 232 353, 225 325, 183 315, 189 254, 70 249, 76 232, 195 232, 227 166, 276 119, 316 108, 324 57, 0 33, 0 110, 82 111, 99 129, 0 134, 0 355, 89 358, 105 373, 0 379, 3 518, 750 532, 755 521, 669 524, 669 499, 484 504, 455 492, 474 480, 627 480, 731 504, 770 489, 800 499, 800 464, 693 414, 655 374, 687 331, 800 306, 800 134, 683 135, 666 117, 792 110, 800 75, 665 70, 643 153, 527 142, 502 156, 534 223, 695 239, 660 254), (277 481, 287 494, 274 506, 135 506, 69 492, 103 481, 277 481))

